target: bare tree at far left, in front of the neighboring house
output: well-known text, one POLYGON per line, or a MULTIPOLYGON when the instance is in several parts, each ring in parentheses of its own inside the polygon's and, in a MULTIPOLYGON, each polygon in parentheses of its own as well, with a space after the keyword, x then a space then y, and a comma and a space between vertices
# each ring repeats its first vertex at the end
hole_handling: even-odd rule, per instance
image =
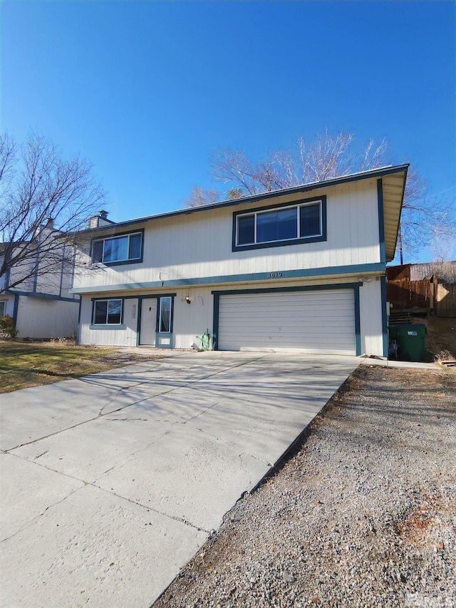
POLYGON ((86 160, 63 160, 38 135, 21 148, 0 135, 0 293, 69 272, 78 231, 104 196, 86 160))

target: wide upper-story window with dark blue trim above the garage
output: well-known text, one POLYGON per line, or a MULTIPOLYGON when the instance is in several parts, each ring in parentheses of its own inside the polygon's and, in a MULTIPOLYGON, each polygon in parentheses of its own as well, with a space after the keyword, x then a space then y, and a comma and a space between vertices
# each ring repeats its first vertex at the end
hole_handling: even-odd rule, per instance
POLYGON ((323 240, 326 197, 234 213, 234 251, 323 240))

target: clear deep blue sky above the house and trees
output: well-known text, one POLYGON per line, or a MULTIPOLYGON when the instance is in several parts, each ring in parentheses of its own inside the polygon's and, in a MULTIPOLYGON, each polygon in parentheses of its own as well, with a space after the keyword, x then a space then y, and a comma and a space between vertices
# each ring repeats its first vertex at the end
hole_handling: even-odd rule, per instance
POLYGON ((182 207, 219 146, 259 158, 298 135, 386 137, 454 200, 450 1, 1 4, 1 130, 95 165, 110 218, 182 207))

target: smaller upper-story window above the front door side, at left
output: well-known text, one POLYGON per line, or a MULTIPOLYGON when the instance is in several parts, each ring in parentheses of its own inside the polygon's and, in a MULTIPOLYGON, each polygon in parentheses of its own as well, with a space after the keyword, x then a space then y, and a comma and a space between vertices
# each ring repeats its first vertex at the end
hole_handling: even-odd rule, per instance
POLYGON ((94 239, 92 241, 92 262, 103 264, 128 264, 142 262, 142 240, 144 232, 130 232, 127 235, 94 239))

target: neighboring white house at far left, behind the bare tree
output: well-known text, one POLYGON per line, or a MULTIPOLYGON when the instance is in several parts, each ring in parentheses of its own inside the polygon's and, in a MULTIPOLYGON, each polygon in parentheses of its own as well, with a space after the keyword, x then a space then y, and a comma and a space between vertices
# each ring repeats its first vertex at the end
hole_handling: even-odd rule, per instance
MULTIPOLYGON (((52 223, 48 222, 43 230, 53 232, 52 223)), ((14 247, 22 246, 24 245, 19 243, 14 247)), ((68 272, 68 265, 64 263, 68 245, 65 242, 59 243, 54 254, 61 254, 62 262, 54 263, 51 269, 46 267, 46 259, 37 257, 36 262, 27 261, 21 268, 13 267, 11 272, 0 279, 0 316, 8 314, 14 319, 21 339, 76 335, 79 296, 69 291, 73 272, 68 272), (26 279, 10 288, 9 285, 16 283, 16 279, 21 276, 26 276, 26 279)), ((1 255, 2 247, 0 258, 1 255)))

